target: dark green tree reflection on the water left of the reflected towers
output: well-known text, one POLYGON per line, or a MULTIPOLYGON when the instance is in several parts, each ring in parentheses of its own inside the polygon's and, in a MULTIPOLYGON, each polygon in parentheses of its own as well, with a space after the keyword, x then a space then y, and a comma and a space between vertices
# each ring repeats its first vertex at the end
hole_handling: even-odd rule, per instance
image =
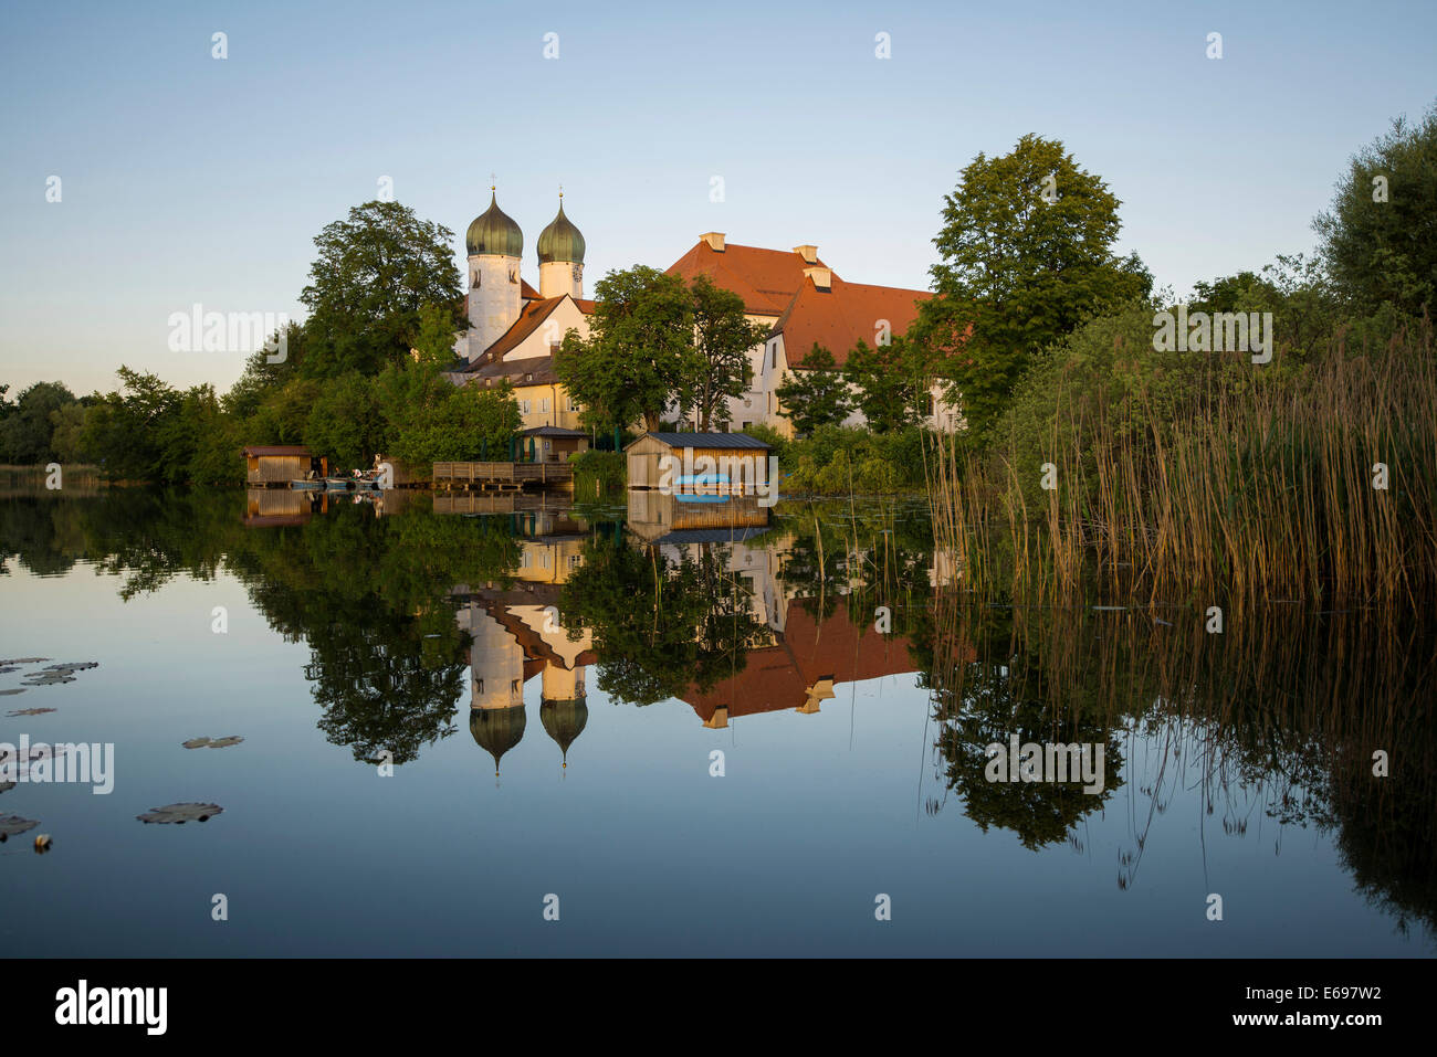
POLYGON ((331 741, 356 760, 388 750, 404 763, 451 734, 467 641, 448 592, 507 583, 519 544, 504 526, 434 517, 422 503, 392 517, 345 503, 305 524, 246 528, 243 508, 243 493, 211 490, 9 500, 0 541, 29 569, 95 562, 122 577, 125 599, 224 569, 272 628, 309 643, 305 671, 331 741))

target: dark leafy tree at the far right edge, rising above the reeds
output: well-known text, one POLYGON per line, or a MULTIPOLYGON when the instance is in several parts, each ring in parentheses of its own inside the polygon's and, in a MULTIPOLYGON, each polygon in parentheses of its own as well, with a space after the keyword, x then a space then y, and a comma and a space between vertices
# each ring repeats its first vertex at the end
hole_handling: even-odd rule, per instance
POLYGON ((1313 220, 1338 290, 1358 312, 1437 307, 1437 105, 1358 151, 1313 220))

